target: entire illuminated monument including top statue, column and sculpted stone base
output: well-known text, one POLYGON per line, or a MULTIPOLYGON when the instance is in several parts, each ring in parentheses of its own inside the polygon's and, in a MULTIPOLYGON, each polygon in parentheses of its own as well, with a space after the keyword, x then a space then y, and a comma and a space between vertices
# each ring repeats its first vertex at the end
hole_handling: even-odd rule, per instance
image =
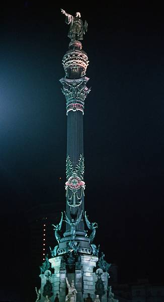
POLYGON ((88 23, 78 12, 75 17, 64 10, 61 13, 69 25, 70 38, 62 59, 65 74, 60 79, 67 116, 66 209, 58 224, 52 224, 56 245, 50 248, 51 257, 46 256, 40 266, 40 302, 46 294, 52 301, 57 296, 60 302, 83 302, 88 293, 106 302, 110 264, 104 253, 98 258, 99 247, 94 244, 98 224, 90 221, 85 210, 84 112, 91 89, 86 76, 89 59, 81 40, 88 23))

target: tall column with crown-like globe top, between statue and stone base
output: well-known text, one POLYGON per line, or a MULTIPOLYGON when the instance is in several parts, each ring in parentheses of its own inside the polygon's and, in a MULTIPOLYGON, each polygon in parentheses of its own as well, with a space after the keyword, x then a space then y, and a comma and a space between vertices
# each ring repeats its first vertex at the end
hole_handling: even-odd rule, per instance
MULTIPOLYGON (((87 24, 87 23, 86 23, 87 24)), ((84 109, 90 92, 86 71, 89 60, 78 40, 71 39, 62 59, 65 77, 60 80, 66 99, 67 155, 66 155, 66 232, 60 240, 58 255, 68 251, 70 240, 78 240, 81 252, 91 253, 90 240, 84 223, 84 109), (74 225, 74 235, 73 235, 74 225)))

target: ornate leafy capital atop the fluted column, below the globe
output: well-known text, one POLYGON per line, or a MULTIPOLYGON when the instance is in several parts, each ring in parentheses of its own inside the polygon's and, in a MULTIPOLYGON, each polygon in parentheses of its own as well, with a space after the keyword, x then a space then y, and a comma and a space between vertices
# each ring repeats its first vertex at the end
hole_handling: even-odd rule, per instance
POLYGON ((91 89, 86 87, 88 80, 89 78, 87 77, 77 80, 60 79, 60 82, 63 85, 63 89, 61 90, 66 98, 66 114, 68 114, 70 110, 79 110, 84 114, 84 101, 91 91, 91 89))

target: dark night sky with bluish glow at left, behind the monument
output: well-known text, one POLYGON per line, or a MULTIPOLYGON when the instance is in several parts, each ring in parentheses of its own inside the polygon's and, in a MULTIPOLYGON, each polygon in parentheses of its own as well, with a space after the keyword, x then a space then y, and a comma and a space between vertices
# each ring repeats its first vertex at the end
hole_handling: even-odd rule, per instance
POLYGON ((85 207, 99 224, 95 242, 118 265, 119 282, 163 282, 163 11, 145 2, 79 3, 5 1, 1 9, 0 300, 31 290, 27 211, 65 200, 59 79, 69 38, 60 8, 89 24, 85 207))

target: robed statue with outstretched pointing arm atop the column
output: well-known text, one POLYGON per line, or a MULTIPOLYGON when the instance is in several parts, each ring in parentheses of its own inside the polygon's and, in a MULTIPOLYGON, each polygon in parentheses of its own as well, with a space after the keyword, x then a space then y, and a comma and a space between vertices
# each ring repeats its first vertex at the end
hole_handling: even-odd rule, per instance
POLYGON ((80 13, 76 13, 75 17, 66 13, 64 10, 61 9, 61 13, 66 16, 65 23, 69 24, 69 31, 68 31, 68 38, 71 40, 83 40, 83 35, 88 30, 88 23, 80 19, 80 13))

